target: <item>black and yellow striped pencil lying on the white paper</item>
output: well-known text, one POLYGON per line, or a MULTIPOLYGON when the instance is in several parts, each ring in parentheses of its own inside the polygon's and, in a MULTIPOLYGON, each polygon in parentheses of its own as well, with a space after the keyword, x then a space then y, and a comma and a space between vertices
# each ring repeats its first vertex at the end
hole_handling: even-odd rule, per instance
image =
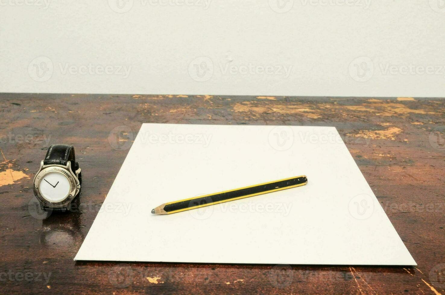
POLYGON ((254 195, 267 194, 272 191, 281 191, 287 188, 299 187, 307 183, 305 175, 279 179, 271 182, 260 183, 248 187, 240 187, 229 191, 220 191, 210 195, 201 195, 189 199, 183 199, 170 203, 163 203, 154 208, 151 213, 166 215, 176 212, 206 207, 218 203, 243 199, 254 195))

